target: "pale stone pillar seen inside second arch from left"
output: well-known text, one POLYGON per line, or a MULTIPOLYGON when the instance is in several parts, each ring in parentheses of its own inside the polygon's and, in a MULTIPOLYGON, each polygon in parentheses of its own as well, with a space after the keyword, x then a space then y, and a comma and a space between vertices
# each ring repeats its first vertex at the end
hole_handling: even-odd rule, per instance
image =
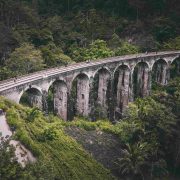
POLYGON ((67 120, 67 87, 65 83, 54 84, 54 111, 64 120, 67 120))

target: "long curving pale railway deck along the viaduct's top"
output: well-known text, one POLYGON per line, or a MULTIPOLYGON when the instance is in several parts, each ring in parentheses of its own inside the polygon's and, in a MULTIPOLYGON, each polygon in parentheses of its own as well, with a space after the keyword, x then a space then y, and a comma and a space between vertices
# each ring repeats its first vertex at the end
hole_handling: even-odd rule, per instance
POLYGON ((100 59, 97 61, 90 61, 89 63, 86 62, 81 62, 81 63, 75 63, 71 64, 68 66, 61 66, 59 68, 51 68, 51 69, 45 69, 42 71, 38 71, 35 73, 23 75, 20 77, 11 78, 7 79, 4 81, 0 81, 0 92, 10 89, 19 85, 22 85, 24 83, 29 83, 33 82, 36 80, 40 80, 49 76, 54 76, 57 74, 65 73, 65 72, 70 72, 73 70, 77 69, 82 69, 82 68, 88 68, 88 67, 93 67, 97 65, 103 65, 106 63, 113 63, 113 62, 119 62, 122 60, 133 60, 135 58, 147 58, 147 57, 163 57, 163 56, 170 56, 170 55, 180 55, 180 51, 165 51, 165 52, 151 52, 151 53, 141 53, 141 54, 133 54, 133 55, 125 55, 125 56, 118 56, 118 57, 110 57, 110 58, 105 58, 105 59, 100 59))

